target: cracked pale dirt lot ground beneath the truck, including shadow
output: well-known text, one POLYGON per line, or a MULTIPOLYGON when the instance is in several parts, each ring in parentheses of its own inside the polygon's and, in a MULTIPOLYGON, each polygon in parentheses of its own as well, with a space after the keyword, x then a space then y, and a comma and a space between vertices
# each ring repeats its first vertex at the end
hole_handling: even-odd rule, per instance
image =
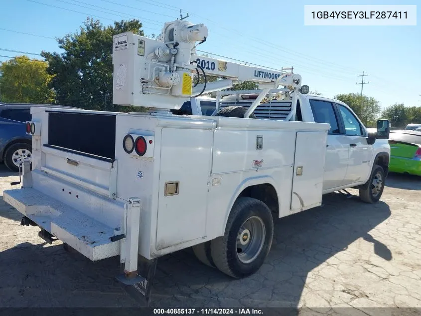
MULTIPOLYGON (((45 244, 2 200, 17 179, 0 165, 0 307, 135 307, 118 259, 92 263, 45 244)), ((421 307, 421 179, 390 175, 382 201, 331 194, 275 221, 266 264, 231 280, 190 250, 158 261, 152 306, 421 307)), ((352 191, 353 193, 355 191, 352 191)))

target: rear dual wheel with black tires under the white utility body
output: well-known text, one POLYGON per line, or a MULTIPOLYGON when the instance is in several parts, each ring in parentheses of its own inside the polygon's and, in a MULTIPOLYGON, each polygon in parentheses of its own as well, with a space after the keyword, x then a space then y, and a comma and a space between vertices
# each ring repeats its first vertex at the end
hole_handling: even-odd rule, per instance
POLYGON ((236 279, 254 274, 272 246, 272 212, 260 200, 241 197, 234 203, 224 236, 211 241, 215 266, 236 279))

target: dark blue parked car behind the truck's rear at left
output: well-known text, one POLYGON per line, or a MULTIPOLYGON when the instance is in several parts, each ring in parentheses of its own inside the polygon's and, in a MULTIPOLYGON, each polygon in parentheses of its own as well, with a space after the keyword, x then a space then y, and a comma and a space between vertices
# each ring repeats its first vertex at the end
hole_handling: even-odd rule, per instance
POLYGON ((25 130, 25 122, 32 119, 31 107, 72 108, 50 104, 0 104, 0 162, 12 171, 19 171, 19 164, 32 158, 32 137, 25 130))

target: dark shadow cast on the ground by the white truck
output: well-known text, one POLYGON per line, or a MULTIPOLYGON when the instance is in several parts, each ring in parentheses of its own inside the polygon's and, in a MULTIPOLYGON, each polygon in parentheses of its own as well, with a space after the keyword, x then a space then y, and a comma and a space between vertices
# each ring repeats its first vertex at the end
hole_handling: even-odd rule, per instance
MULTIPOLYGON (((249 278, 233 280, 204 266, 190 249, 159 258, 151 306, 295 307, 307 274, 359 238, 371 242, 377 256, 392 259, 388 247, 369 235, 391 215, 387 204, 340 194, 324 196, 323 203, 275 220, 269 257, 249 278)), ((93 263, 62 245, 19 244, 0 253, 0 306, 137 306, 114 278, 118 267, 118 258, 93 263)))

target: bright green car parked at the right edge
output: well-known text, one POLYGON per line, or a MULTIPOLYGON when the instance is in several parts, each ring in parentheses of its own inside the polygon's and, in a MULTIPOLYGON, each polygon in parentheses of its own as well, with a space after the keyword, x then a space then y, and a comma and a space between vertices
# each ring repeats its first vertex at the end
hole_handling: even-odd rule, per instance
POLYGON ((389 171, 421 176, 421 132, 391 131, 389 171))

